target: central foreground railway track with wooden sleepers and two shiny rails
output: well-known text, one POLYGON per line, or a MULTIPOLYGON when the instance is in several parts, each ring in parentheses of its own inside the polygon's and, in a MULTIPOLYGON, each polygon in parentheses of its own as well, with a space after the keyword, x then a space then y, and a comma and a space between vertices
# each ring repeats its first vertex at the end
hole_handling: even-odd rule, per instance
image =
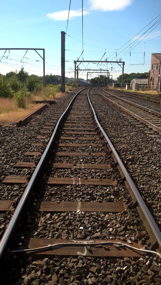
MULTIPOLYGON (((139 258, 143 252, 140 251, 141 239, 135 232, 138 223, 149 249, 158 250, 161 247, 160 232, 118 153, 97 121, 86 89, 79 93, 60 119, 57 121, 58 116, 53 116, 47 123, 48 129, 37 137, 37 140, 45 140, 44 132, 49 132, 49 128, 56 124, 31 179, 11 175, 3 180, 4 184, 21 183, 26 189, 1 239, 1 256, 26 201, 29 206, 23 218, 24 227, 18 235, 21 232, 25 237, 23 252, 27 251, 34 258, 53 258, 55 255, 139 258), (137 211, 131 207, 131 198, 126 199, 123 195, 127 189, 146 229, 137 211), (29 195, 32 200, 31 197, 28 200, 29 195), (111 217, 114 217, 112 222, 111 217), (125 227, 121 224, 124 220, 128 221, 125 227), (131 246, 135 246, 135 251, 130 249, 131 246)), ((35 148, 42 143, 32 145, 35 148)), ((26 152, 30 158, 39 154, 38 151, 26 152)), ((15 166, 21 170, 35 165, 30 159, 29 162, 17 162, 15 166)), ((12 210, 14 201, 1 202, 4 211, 5 206, 6 210, 12 210)), ((21 239, 18 243, 21 245, 21 239)), ((16 243, 14 246, 10 248, 10 254, 12 250, 16 252, 16 243)), ((16 254, 20 254, 19 249, 16 254)))

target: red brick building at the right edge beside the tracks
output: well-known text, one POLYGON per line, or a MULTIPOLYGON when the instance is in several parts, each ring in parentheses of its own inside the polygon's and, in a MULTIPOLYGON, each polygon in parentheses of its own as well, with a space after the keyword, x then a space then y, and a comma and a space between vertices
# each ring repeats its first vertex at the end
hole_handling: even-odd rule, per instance
POLYGON ((150 68, 150 88, 160 89, 160 65, 161 65, 161 53, 151 54, 151 68, 150 68))

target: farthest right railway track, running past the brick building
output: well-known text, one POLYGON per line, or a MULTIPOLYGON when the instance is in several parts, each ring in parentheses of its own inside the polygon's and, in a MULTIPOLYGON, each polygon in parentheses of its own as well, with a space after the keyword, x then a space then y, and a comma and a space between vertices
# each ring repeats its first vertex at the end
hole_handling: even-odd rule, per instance
POLYGON ((116 94, 123 94, 123 95, 130 95, 135 98, 141 98, 150 102, 154 102, 157 104, 161 104, 161 95, 152 95, 152 94, 146 94, 146 93, 139 93, 139 92, 132 92, 132 91, 123 91, 123 90, 112 90, 107 89, 109 92, 114 91, 116 94))

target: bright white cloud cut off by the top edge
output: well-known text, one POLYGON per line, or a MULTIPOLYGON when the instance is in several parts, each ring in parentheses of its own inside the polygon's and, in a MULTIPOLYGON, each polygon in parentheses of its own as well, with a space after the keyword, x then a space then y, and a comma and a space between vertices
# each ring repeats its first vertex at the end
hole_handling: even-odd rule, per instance
POLYGON ((124 10, 134 0, 89 0, 91 9, 99 11, 124 10))

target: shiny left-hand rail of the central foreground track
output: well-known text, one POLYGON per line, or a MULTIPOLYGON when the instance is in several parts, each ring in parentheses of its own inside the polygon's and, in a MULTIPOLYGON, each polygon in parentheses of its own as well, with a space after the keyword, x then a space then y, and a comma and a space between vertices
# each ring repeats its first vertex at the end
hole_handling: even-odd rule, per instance
POLYGON ((74 99, 76 98, 76 96, 77 96, 80 92, 82 92, 84 89, 86 89, 86 88, 83 88, 82 90, 80 90, 80 91, 74 96, 74 98, 71 100, 71 102, 69 103, 68 107, 66 108, 66 110, 64 111, 64 113, 61 115, 61 117, 59 118, 59 120, 58 120, 58 122, 57 122, 57 124, 56 124, 56 126, 55 126, 54 132, 53 132, 53 134, 51 135, 51 138, 50 138, 50 140, 49 140, 49 143, 48 143, 48 145, 46 146, 46 149, 45 149, 45 151, 43 152, 43 155, 41 156, 41 159, 40 159, 39 163, 37 164, 37 167, 35 168, 35 171, 34 171, 34 173, 32 174, 32 177, 31 177, 31 179, 30 179, 30 181, 29 181, 29 183, 28 183, 28 185, 27 185, 27 187, 26 187, 26 189, 25 189, 25 191, 24 191, 24 193, 23 193, 23 195, 22 195, 22 197, 21 197, 21 199, 20 199, 20 201, 19 201, 19 203, 18 203, 16 209, 15 209, 15 212, 13 213, 13 216, 12 216, 12 218, 11 218, 11 220, 10 220, 8 226, 7 226, 7 229, 5 230, 4 235, 3 235, 3 237, 2 237, 2 239, 1 239, 1 241, 0 241, 0 258, 2 257, 2 254, 3 254, 3 252, 4 252, 4 250, 5 250, 6 246, 7 246, 7 242, 8 242, 8 240, 9 240, 9 238, 10 238, 12 232, 13 232, 13 229, 14 229, 14 227, 15 227, 16 222, 18 221, 18 218, 19 218, 19 216, 20 216, 20 214, 21 214, 21 211, 22 211, 22 209, 23 209, 23 207, 24 207, 24 204, 25 204, 27 198, 29 197, 30 191, 31 191, 31 189, 32 189, 32 187, 33 187, 33 185, 34 185, 34 183, 35 183, 35 180, 36 180, 36 178, 37 178, 37 175, 39 174, 39 171, 40 171, 40 169, 41 169, 41 167, 42 167, 42 164, 43 164, 43 162, 45 161, 46 156, 47 156, 47 154, 48 154, 48 152, 49 152, 49 150, 50 150, 50 148, 51 148, 51 145, 52 145, 53 140, 54 140, 54 138, 55 138, 55 136, 56 136, 56 132, 57 132, 57 130, 58 130, 58 127, 60 126, 60 123, 62 122, 62 119, 63 119, 64 116, 66 115, 66 113, 67 113, 69 107, 70 107, 70 106, 72 105, 72 103, 74 102, 74 99))

